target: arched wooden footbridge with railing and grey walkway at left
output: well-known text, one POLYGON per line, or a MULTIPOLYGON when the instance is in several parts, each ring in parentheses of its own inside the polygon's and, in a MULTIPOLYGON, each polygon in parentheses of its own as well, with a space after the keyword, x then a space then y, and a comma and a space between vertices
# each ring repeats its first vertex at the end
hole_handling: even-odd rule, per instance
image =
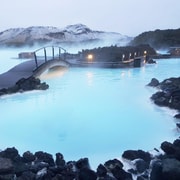
POLYGON ((39 77, 53 67, 69 67, 70 63, 66 61, 66 53, 64 48, 56 46, 46 46, 34 52, 20 53, 20 58, 29 58, 30 60, 0 74, 0 89, 15 85, 21 78, 39 77))

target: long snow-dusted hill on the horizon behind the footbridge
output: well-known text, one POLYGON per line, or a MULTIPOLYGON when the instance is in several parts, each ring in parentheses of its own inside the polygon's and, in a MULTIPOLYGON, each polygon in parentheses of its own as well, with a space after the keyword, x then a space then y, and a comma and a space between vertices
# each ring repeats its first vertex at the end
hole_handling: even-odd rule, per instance
MULTIPOLYGON (((40 44, 106 42, 107 45, 126 45, 132 38, 120 33, 94 31, 83 24, 69 25, 65 28, 32 26, 14 28, 0 32, 0 45, 23 46, 40 44)), ((105 45, 106 45, 105 43, 105 45)))

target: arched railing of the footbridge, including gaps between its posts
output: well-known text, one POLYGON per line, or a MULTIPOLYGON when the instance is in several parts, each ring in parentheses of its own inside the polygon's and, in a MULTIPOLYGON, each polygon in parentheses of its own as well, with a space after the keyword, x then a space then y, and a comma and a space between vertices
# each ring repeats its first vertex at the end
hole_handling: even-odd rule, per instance
POLYGON ((66 50, 59 46, 46 46, 34 51, 36 68, 47 61, 59 59, 66 60, 66 50))

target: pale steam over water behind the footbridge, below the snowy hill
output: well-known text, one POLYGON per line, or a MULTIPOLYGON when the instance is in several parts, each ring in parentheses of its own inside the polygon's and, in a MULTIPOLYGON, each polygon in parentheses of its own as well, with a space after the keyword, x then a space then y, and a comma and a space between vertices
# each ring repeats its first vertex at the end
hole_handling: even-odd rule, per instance
MULTIPOLYGON (((129 41, 128 41, 129 42, 129 41)), ((54 44, 35 44, 34 46, 24 46, 21 48, 1 48, 0 49, 0 73, 4 73, 10 68, 14 67, 15 65, 27 60, 27 59, 18 59, 18 54, 21 52, 34 52, 37 49, 45 46, 60 46, 64 48, 68 53, 78 53, 79 51, 82 51, 83 49, 93 49, 98 47, 104 47, 104 46, 112 46, 112 45, 118 45, 118 46, 125 46, 127 41, 118 41, 117 39, 106 39, 101 41, 88 41, 88 42, 74 42, 74 43, 59 43, 54 44)))

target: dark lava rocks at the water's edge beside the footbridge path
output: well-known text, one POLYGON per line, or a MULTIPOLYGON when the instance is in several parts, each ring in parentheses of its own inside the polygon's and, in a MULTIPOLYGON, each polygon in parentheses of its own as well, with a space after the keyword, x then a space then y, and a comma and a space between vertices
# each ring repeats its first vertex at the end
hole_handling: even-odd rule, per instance
POLYGON ((48 88, 48 84, 45 82, 41 83, 40 79, 32 76, 29 78, 21 78, 12 87, 0 89, 0 96, 31 90, 46 90, 48 88))

